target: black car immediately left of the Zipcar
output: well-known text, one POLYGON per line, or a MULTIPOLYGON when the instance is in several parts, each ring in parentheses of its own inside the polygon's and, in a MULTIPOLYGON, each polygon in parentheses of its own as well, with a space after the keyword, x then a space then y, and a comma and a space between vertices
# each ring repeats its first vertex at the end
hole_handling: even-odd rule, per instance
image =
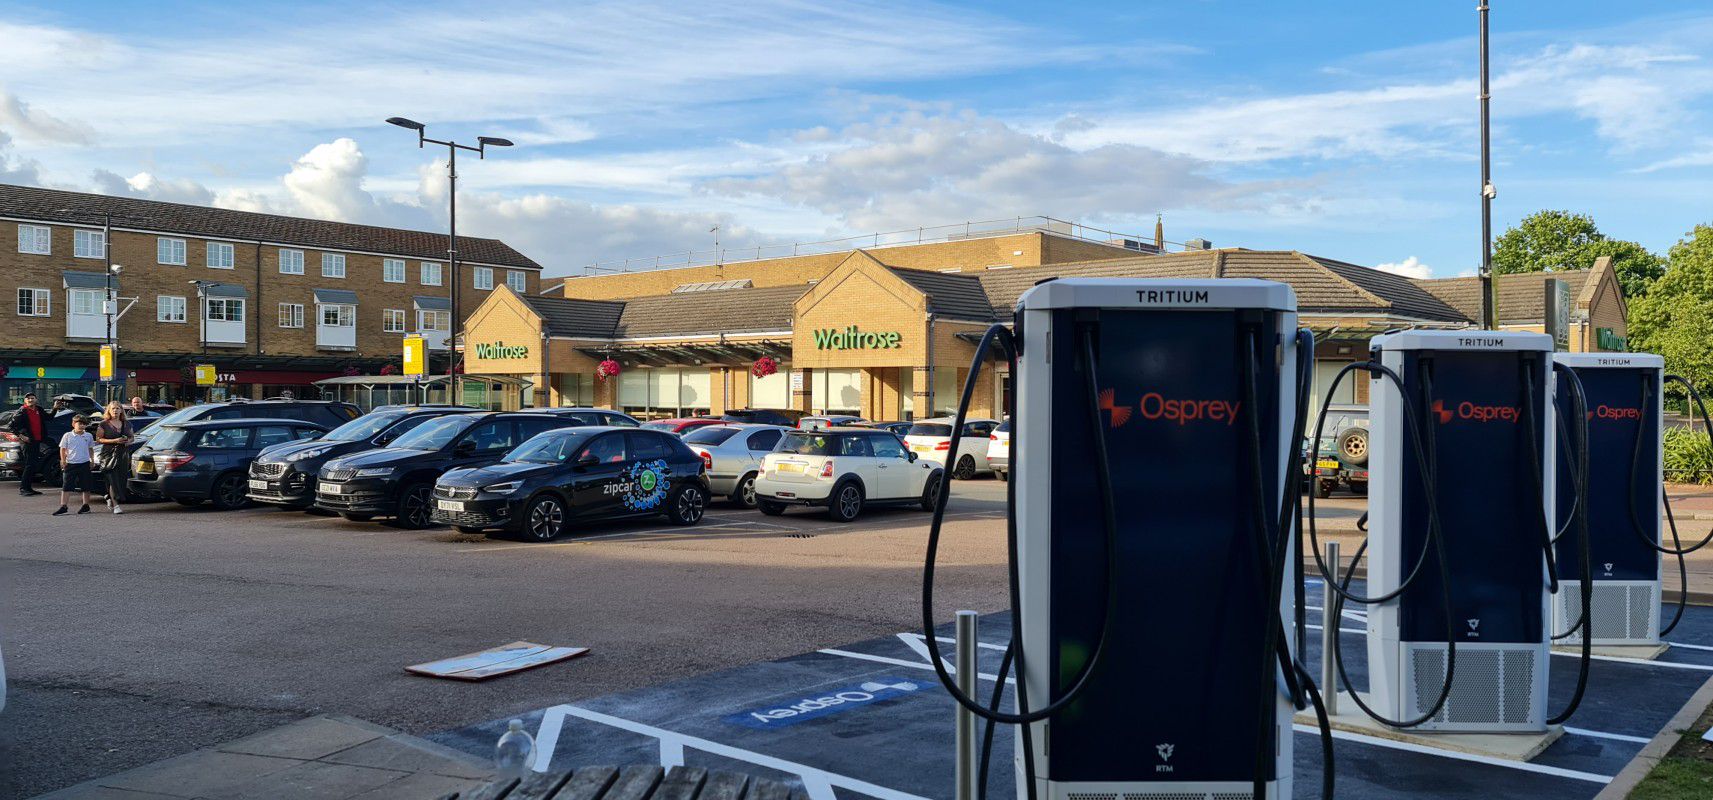
POLYGON ((433 483, 447 469, 488 466, 536 433, 576 418, 526 411, 447 415, 418 425, 387 447, 341 456, 315 478, 315 507, 344 519, 392 517, 401 528, 433 522, 433 483))

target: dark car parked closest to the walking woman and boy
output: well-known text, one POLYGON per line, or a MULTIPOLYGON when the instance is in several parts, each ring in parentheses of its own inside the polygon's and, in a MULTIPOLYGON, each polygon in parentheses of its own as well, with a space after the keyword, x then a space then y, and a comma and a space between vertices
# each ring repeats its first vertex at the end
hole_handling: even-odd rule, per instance
POLYGON ((214 502, 238 509, 250 502, 250 461, 266 447, 315 439, 327 428, 303 420, 206 420, 158 425, 132 454, 128 493, 166 497, 180 505, 214 502))

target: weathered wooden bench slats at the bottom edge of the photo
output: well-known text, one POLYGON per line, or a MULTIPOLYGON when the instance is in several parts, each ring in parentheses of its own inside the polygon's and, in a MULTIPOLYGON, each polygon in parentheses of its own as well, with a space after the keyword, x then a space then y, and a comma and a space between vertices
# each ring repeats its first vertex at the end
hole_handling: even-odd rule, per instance
POLYGON ((502 778, 440 800, 809 800, 800 788, 740 773, 653 764, 502 778))

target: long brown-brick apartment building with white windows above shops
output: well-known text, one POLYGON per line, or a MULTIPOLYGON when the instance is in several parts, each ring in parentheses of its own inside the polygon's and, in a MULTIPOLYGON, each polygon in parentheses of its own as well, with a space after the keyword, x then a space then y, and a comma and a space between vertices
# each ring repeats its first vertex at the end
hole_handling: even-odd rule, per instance
MULTIPOLYGON (((540 291, 541 266, 504 242, 457 245, 461 317, 495 286, 540 291)), ((91 392, 110 315, 125 391, 166 403, 206 394, 194 363, 218 368, 214 397, 312 396, 397 367, 409 334, 444 370, 454 315, 444 233, 15 185, 0 185, 0 281, 17 298, 7 403, 91 392)))

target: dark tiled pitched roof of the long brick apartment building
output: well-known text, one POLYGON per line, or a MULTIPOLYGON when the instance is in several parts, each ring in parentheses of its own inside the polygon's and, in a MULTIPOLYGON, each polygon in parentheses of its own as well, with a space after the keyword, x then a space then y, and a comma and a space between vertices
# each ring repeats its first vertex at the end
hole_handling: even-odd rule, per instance
MULTIPOLYGON (((0 216, 87 226, 99 224, 103 212, 113 214, 118 228, 445 260, 444 233, 0 183, 0 216)), ((457 255, 461 262, 541 269, 492 238, 459 236, 457 255)))

